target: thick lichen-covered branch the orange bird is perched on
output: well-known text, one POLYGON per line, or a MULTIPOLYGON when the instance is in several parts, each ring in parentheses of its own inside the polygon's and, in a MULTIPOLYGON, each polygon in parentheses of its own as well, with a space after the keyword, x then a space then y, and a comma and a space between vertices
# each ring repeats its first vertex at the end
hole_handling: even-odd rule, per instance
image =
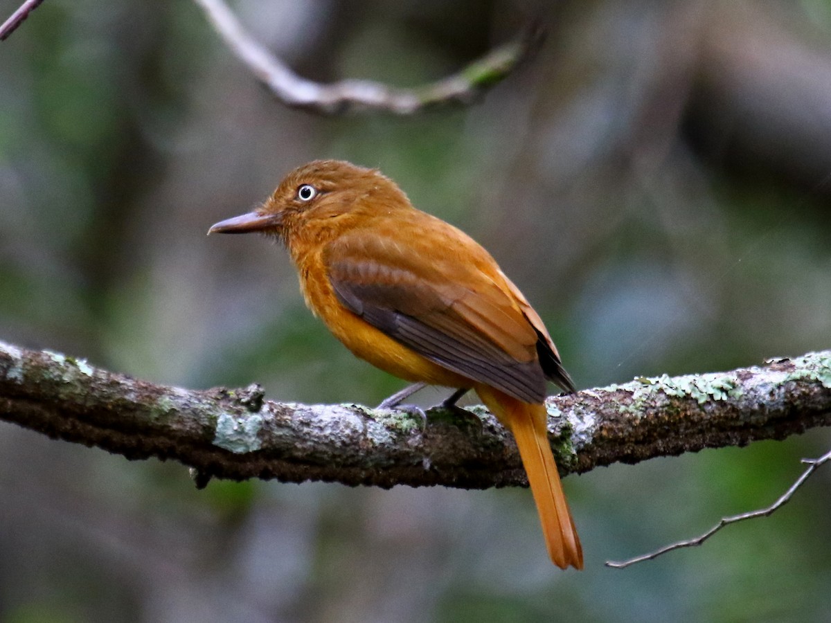
MULTIPOLYGON (((153 385, 52 351, 0 342, 0 419, 128 459, 175 459, 208 478, 391 487, 524 484, 512 439, 482 408, 459 419, 359 405, 297 405, 244 390, 153 385)), ((563 473, 784 439, 831 424, 831 351, 760 367, 548 399, 563 473)))

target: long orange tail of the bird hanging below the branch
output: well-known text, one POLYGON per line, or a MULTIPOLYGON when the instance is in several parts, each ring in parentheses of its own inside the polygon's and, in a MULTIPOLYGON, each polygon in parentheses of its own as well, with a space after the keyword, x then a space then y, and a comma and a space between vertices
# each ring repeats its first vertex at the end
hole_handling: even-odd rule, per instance
POLYGON ((476 387, 476 393, 488 409, 514 434, 519 456, 534 502, 537 503, 539 521, 551 561, 566 569, 568 566, 583 568, 583 548, 577 528, 568 510, 563 485, 551 446, 548 445, 547 414, 544 405, 530 405, 505 395, 487 385, 476 387))

